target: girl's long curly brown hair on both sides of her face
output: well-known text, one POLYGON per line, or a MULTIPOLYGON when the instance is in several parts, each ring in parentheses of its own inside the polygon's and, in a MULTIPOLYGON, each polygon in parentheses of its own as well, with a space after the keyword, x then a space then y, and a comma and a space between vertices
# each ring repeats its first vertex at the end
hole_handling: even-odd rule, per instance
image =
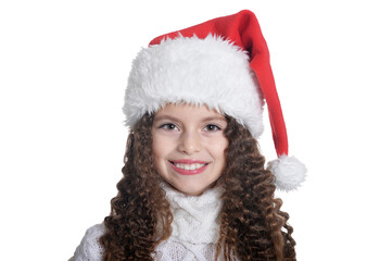
MULTIPOLYGON (((220 236, 215 259, 295 261, 289 214, 275 198, 275 178, 264 169, 265 158, 248 128, 230 116, 224 130, 228 139, 226 166, 216 186, 223 186, 220 236)), ((104 261, 153 260, 155 247, 172 233, 173 214, 163 182, 154 167, 151 127, 146 114, 130 132, 118 194, 111 201, 100 238, 104 261)))

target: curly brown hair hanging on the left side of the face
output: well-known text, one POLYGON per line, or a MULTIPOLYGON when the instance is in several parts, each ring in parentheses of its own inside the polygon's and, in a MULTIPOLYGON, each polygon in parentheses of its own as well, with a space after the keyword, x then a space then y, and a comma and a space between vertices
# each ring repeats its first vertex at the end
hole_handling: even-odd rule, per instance
POLYGON ((169 203, 153 165, 152 121, 144 115, 129 133, 123 178, 100 238, 104 261, 153 260, 154 248, 172 233, 169 203))

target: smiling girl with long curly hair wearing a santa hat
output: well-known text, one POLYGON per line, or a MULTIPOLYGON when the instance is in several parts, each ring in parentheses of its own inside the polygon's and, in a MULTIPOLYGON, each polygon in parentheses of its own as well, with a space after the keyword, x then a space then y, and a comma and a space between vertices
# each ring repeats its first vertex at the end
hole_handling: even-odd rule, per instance
POLYGON ((118 195, 73 260, 295 260, 274 192, 295 189, 305 167, 287 157, 268 55, 246 10, 139 52, 123 108, 130 133, 118 195), (256 141, 264 101, 279 157, 267 169, 256 141))

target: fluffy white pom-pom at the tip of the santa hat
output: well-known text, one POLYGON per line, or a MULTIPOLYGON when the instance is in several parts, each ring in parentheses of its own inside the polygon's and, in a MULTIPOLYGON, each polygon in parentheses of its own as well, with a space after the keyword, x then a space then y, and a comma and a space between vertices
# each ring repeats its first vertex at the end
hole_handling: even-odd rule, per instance
POLYGON ((280 190, 294 190, 305 181, 306 167, 294 157, 280 156, 268 162, 267 167, 275 175, 275 185, 280 190))

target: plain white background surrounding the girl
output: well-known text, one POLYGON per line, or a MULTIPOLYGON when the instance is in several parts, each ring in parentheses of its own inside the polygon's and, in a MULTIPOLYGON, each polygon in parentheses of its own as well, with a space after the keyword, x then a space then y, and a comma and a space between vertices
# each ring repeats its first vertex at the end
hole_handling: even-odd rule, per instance
MULTIPOLYGON (((260 20, 290 151, 308 167, 300 190, 277 194, 298 260, 392 260, 392 15, 381 0, 1 1, 1 260, 73 254, 116 195, 132 58, 155 36, 242 9, 260 20)), ((261 147, 275 159, 270 130, 261 147)))

